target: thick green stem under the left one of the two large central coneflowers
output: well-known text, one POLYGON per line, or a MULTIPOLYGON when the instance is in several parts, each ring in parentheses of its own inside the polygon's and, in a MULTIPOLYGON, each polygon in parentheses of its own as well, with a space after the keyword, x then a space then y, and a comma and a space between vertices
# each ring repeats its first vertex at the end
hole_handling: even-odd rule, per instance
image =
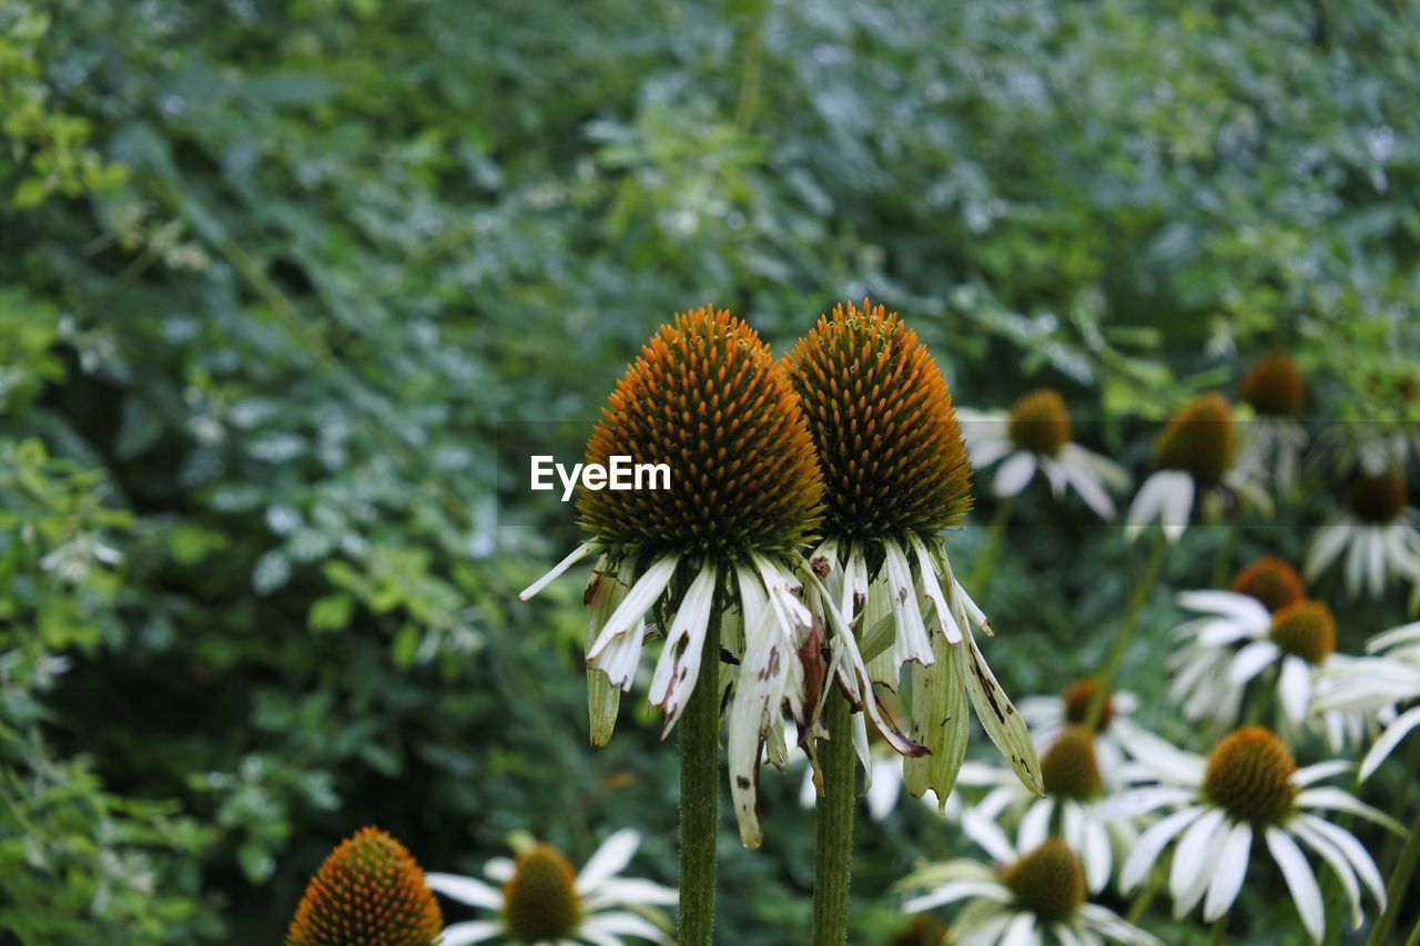
POLYGON ((683 946, 714 935, 714 841, 720 821, 720 615, 710 618, 700 676, 680 719, 680 923, 683 946))

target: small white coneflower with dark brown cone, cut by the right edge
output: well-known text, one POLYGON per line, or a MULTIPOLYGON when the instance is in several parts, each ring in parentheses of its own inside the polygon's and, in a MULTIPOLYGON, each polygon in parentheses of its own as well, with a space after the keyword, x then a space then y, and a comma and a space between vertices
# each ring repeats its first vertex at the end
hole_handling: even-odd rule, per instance
POLYGON ((1409 504, 1397 470, 1358 472, 1346 509, 1323 524, 1306 555, 1306 578, 1346 560, 1346 591, 1355 598, 1369 588, 1380 598, 1392 577, 1420 582, 1420 511, 1409 504))

